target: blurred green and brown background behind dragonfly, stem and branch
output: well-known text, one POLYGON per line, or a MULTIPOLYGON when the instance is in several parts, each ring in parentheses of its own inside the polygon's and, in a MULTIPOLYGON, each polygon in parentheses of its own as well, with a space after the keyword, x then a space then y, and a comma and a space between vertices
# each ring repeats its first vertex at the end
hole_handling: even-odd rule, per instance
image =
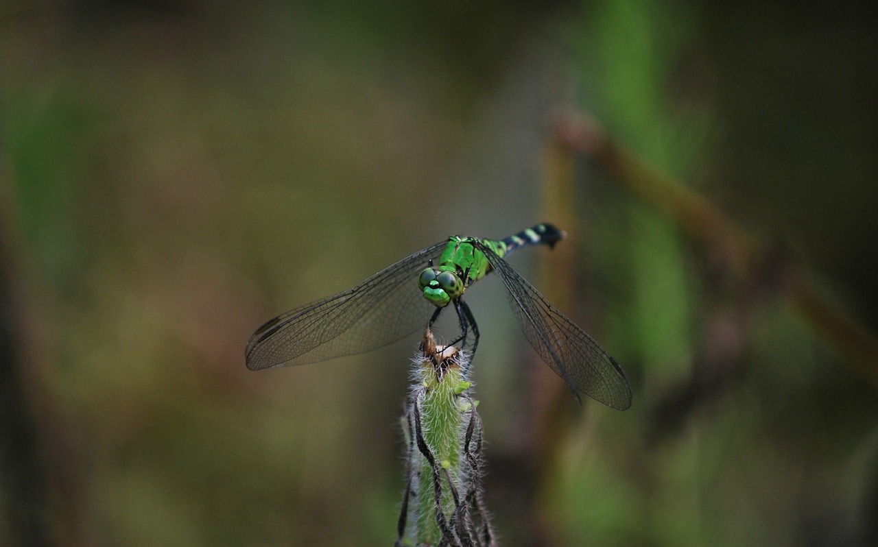
MULTIPOLYGON (((834 4, 4 2, 0 544, 392 544, 414 340, 260 373, 244 344, 449 234, 553 220, 558 112, 874 332, 875 26, 834 4)), ((878 543, 875 385, 585 158, 577 181, 587 305, 556 304, 634 406, 566 399, 520 491, 543 365, 500 288, 474 291, 500 544, 878 543)), ((511 262, 543 288, 547 256, 511 262)))

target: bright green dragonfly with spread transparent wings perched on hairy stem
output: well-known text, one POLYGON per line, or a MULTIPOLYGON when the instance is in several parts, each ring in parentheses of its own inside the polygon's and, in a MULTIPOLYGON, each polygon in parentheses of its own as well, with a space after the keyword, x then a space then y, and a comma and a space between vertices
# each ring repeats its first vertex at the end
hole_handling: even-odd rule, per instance
POLYGON ((464 293, 494 273, 506 286, 509 305, 524 337, 543 361, 564 379, 573 397, 579 392, 608 407, 631 406, 631 388, 622 366, 582 328, 552 306, 507 263, 518 248, 553 248, 565 233, 544 223, 502 240, 453 235, 379 271, 363 283, 290 312, 256 329, 247 343, 248 369, 316 363, 378 349, 424 327, 444 309, 457 313, 464 346, 479 327, 464 293))

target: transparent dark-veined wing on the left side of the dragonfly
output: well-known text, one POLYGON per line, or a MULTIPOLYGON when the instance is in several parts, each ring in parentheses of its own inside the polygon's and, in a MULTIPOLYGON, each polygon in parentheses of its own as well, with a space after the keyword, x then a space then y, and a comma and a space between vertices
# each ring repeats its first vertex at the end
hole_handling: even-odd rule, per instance
POLYGON ((412 256, 328 299, 268 321, 247 342, 247 368, 315 363, 380 348, 423 328, 435 310, 418 290, 418 273, 448 241, 412 256))

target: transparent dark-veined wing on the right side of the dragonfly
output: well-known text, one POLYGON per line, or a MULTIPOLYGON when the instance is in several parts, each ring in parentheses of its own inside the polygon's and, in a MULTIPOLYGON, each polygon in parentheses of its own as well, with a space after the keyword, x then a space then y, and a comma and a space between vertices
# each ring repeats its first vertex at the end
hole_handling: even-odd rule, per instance
POLYGON ((619 363, 594 338, 549 304, 528 280, 490 248, 479 245, 508 290, 509 305, 524 336, 545 363, 577 391, 608 407, 631 406, 631 388, 619 363))

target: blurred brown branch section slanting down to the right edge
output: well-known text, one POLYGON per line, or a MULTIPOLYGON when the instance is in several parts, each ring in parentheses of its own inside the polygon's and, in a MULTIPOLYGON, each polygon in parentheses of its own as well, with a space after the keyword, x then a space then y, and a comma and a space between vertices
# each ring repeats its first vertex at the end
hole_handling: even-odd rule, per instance
POLYGON ((846 356, 860 374, 878 385, 878 341, 817 291, 802 276, 795 261, 778 256, 776 249, 731 220, 708 198, 644 162, 594 120, 567 115, 558 120, 553 137, 559 146, 587 155, 617 182, 670 217, 736 275, 764 283, 759 276, 766 275, 766 266, 771 266, 770 271, 776 272, 776 278, 770 280, 774 291, 817 335, 846 356))

